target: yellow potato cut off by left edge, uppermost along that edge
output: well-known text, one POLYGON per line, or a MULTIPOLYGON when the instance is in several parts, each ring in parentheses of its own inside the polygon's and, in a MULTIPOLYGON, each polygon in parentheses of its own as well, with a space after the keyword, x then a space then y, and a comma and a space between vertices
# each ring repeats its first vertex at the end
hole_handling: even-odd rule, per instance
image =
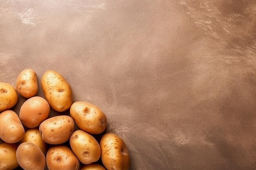
POLYGON ((18 93, 8 83, 0 82, 0 112, 12 108, 18 102, 18 93))

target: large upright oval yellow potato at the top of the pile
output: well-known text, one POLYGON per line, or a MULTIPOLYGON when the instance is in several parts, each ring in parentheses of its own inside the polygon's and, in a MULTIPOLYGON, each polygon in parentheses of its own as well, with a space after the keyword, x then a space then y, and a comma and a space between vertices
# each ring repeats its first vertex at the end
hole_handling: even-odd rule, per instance
POLYGON ((63 112, 70 108, 72 99, 72 90, 70 84, 56 71, 46 71, 42 77, 43 93, 50 106, 63 112))

